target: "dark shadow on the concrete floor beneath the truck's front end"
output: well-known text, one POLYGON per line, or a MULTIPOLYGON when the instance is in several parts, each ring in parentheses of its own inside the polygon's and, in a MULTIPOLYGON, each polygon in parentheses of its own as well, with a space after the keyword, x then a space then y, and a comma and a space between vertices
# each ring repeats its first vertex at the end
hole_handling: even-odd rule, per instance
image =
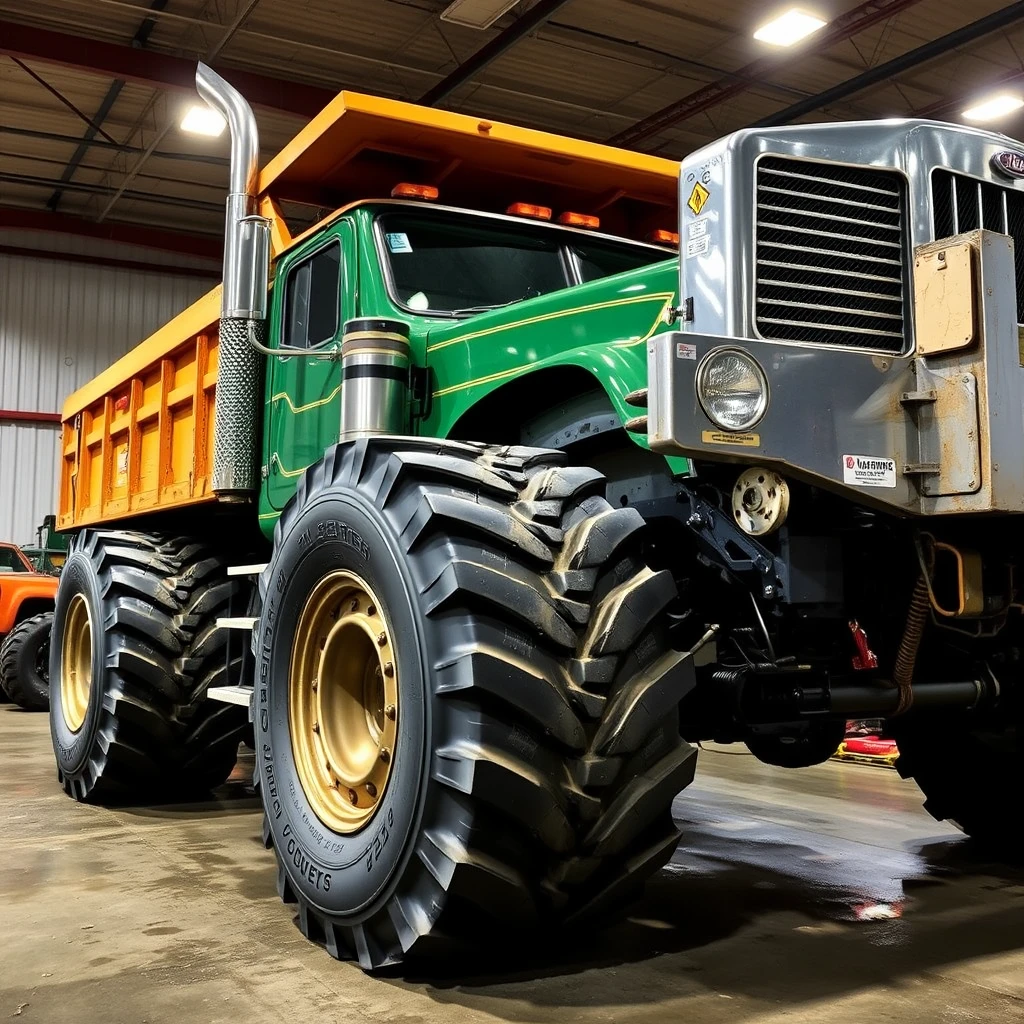
MULTIPOLYGON (((762 852, 775 865, 813 856, 798 847, 762 852)), ((993 864, 961 840, 915 852, 924 868, 903 880, 897 920, 858 921, 864 897, 844 887, 842 865, 840 879, 823 886, 773 866, 720 860, 705 871, 663 870, 615 927, 500 948, 488 937, 485 957, 414 966, 394 983, 445 1004, 478 995, 490 1009, 494 1000, 599 1007, 609 1001, 606 981, 570 979, 612 969, 623 1002, 668 1000, 684 985, 776 1005, 784 993, 783 1002, 797 1005, 1024 948, 1024 871, 993 864)), ((514 1007, 500 1013, 517 1019, 514 1007)))

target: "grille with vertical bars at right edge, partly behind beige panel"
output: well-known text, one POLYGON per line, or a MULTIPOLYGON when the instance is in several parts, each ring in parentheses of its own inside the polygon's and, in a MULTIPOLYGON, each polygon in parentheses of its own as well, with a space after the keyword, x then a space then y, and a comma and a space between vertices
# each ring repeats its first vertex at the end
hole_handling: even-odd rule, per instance
POLYGON ((1017 323, 1024 324, 1024 193, 966 174, 932 172, 935 238, 987 227, 1013 236, 1017 266, 1017 323))

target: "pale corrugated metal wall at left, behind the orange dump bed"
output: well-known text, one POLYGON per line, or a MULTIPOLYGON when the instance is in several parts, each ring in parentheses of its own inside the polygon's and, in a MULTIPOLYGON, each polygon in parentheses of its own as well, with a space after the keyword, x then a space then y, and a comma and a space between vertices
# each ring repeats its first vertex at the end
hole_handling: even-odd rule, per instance
MULTIPOLYGON (((198 266, 88 239, 0 231, 0 243, 198 266)), ((209 264, 205 264, 209 266, 209 264)), ((0 409, 58 413, 65 398, 214 282, 0 255, 0 409)), ((58 425, 0 422, 0 540, 29 543, 56 511, 58 425)))

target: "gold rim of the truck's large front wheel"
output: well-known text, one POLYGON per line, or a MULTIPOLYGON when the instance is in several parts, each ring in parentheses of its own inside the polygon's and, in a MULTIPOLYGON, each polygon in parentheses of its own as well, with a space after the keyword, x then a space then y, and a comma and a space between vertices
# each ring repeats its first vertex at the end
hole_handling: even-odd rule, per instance
POLYGON ((354 572, 313 588, 299 615, 288 725, 299 784, 341 835, 368 824, 394 765, 398 667, 381 603, 354 572))

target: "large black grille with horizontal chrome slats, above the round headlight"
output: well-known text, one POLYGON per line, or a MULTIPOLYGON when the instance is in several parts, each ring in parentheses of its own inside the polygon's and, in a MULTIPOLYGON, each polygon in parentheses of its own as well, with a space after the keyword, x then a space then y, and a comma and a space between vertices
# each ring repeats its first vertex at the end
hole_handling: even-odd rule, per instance
POLYGON ((900 351, 905 195, 894 171, 763 158, 755 284, 761 337, 900 351))

